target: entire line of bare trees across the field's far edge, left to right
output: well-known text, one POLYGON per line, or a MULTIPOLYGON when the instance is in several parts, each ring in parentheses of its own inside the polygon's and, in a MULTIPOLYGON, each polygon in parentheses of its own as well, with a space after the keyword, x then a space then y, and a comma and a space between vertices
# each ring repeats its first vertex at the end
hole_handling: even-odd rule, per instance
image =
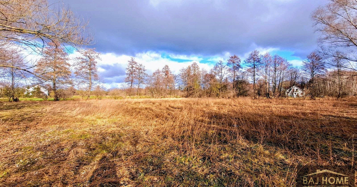
MULTIPOLYGON (((24 57, 19 51, 2 49, 10 54, 7 63, 21 67, 24 57)), ((226 62, 217 62, 212 69, 201 69, 196 62, 173 74, 165 65, 151 74, 145 66, 131 58, 126 68, 125 83, 121 88, 105 90, 99 81, 97 60, 100 54, 94 49, 80 50, 81 56, 69 59, 68 53, 59 43, 50 42, 42 57, 36 61, 33 72, 36 84, 49 90, 54 100, 67 99, 73 95, 89 99, 91 95, 101 99, 138 96, 148 98, 165 97, 216 97, 216 98, 286 98, 293 87, 303 90, 302 98, 331 96, 342 98, 356 95, 356 71, 346 68, 348 61, 340 57, 323 58, 312 52, 303 61, 301 68, 294 67, 278 55, 260 54, 253 51, 245 60, 231 56, 226 62), (69 63, 71 60, 72 63, 69 63), (41 77, 40 77, 41 76, 41 77)), ((2 68, 0 96, 39 97, 49 96, 40 90, 24 94, 23 78, 31 76, 16 68, 2 68)))

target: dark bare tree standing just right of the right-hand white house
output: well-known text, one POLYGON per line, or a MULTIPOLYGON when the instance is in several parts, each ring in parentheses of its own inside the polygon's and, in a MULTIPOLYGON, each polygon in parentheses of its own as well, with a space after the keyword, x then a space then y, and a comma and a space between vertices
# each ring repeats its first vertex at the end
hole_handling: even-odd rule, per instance
POLYGON ((302 62, 302 68, 305 74, 310 79, 310 98, 315 99, 315 84, 316 84, 316 76, 323 73, 325 69, 325 64, 322 61, 320 55, 317 52, 312 52, 307 56, 306 61, 302 62))

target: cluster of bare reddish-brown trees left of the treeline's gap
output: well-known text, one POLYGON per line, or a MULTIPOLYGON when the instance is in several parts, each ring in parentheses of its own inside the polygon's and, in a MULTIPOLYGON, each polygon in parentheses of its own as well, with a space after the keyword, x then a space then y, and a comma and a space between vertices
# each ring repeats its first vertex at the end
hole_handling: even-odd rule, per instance
POLYGON ((69 53, 60 42, 49 42, 43 48, 41 58, 32 63, 32 72, 29 73, 18 69, 28 69, 29 63, 21 49, 11 47, 10 50, 7 45, 0 47, 2 60, 10 66, 0 68, 0 96, 7 97, 9 101, 16 97, 48 98, 49 95, 41 91, 26 95, 26 89, 23 88, 26 82, 46 88, 55 101, 69 98, 76 93, 73 91, 76 89, 85 90, 86 98, 90 98, 92 87, 100 84, 97 71, 100 53, 95 49, 80 49, 80 56, 70 59, 69 53))

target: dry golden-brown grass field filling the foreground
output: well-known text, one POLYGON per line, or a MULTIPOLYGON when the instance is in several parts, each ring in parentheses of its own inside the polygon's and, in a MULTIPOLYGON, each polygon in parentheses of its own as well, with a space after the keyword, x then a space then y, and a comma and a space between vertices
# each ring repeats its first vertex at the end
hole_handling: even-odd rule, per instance
POLYGON ((357 161, 357 102, 0 103, 0 186, 295 186, 357 161))

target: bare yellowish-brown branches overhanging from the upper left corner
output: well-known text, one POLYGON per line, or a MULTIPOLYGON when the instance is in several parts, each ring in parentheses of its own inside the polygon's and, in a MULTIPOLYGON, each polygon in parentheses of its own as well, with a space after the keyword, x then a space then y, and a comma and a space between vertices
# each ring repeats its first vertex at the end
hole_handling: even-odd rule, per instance
MULTIPOLYGON (((62 4, 49 5, 46 0, 3 0, 0 12, 0 42, 15 42, 43 53, 44 47, 53 42, 78 47, 92 41, 87 22, 62 4)), ((44 78, 31 71, 35 66, 14 67, 0 62, 0 67, 16 68, 44 78)))

